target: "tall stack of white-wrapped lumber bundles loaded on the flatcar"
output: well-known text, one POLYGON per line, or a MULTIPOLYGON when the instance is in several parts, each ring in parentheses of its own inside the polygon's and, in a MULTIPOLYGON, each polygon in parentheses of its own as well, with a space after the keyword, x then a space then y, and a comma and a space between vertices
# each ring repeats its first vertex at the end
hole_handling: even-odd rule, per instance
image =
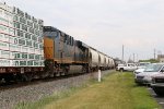
POLYGON ((0 66, 44 66, 42 20, 0 2, 0 66))

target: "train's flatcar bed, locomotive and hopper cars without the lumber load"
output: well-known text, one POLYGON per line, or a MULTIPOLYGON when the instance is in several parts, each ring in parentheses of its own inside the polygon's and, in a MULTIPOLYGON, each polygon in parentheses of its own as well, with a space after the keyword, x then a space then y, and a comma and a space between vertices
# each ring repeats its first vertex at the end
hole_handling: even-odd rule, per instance
POLYGON ((55 27, 44 26, 43 41, 45 66, 0 66, 0 77, 32 81, 115 68, 113 58, 55 27))

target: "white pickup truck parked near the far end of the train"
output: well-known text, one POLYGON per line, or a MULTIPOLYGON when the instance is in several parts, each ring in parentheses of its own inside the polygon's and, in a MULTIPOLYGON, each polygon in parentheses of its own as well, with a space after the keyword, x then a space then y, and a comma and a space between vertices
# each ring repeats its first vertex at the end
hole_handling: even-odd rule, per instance
POLYGON ((116 70, 120 71, 120 72, 134 71, 134 70, 137 70, 137 65, 134 63, 118 64, 116 70))

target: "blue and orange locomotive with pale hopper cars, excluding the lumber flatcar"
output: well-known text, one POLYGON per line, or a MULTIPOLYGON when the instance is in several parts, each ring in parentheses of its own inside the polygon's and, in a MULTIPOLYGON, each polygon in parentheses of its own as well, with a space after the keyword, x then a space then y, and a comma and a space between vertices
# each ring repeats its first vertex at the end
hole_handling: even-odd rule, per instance
POLYGON ((51 26, 44 27, 44 51, 45 69, 52 75, 75 73, 74 68, 86 73, 115 66, 113 58, 51 26))

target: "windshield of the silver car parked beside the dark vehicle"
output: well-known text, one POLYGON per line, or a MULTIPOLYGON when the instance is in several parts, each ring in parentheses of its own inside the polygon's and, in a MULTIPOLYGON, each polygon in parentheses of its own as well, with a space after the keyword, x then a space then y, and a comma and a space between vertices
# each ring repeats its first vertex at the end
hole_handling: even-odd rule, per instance
POLYGON ((144 69, 144 72, 159 72, 164 64, 150 64, 144 69))

